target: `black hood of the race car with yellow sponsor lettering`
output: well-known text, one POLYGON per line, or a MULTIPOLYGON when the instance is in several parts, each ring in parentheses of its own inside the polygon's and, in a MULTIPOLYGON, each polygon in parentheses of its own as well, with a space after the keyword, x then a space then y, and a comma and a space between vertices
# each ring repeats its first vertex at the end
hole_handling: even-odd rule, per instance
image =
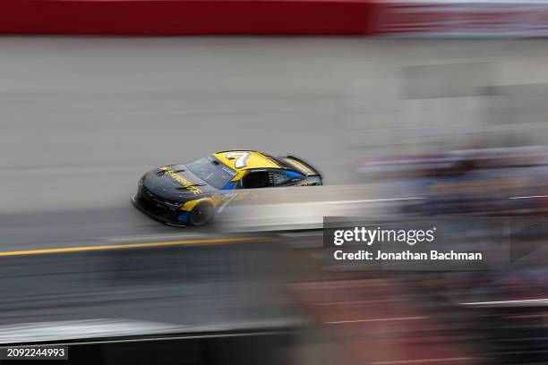
POLYGON ((142 184, 160 198, 179 202, 200 199, 218 191, 191 173, 184 165, 170 165, 151 170, 143 176, 142 184))

